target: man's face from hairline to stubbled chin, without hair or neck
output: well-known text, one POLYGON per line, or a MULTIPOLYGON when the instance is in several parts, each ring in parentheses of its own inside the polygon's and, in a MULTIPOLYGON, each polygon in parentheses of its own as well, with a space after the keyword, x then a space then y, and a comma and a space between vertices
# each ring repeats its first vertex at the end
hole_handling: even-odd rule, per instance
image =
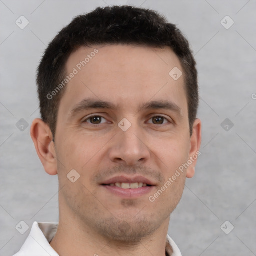
POLYGON ((55 134, 60 213, 120 240, 168 222, 196 160, 180 166, 198 149, 183 76, 169 75, 174 67, 182 70, 167 48, 107 45, 70 55, 67 74, 75 74, 55 134), (73 169, 73 181, 80 175, 75 182, 67 178, 73 169))

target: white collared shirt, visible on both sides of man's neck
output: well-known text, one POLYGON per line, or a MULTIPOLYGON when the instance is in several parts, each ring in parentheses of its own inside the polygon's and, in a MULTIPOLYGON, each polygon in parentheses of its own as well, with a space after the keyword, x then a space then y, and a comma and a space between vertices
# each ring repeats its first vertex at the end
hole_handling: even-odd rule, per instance
MULTIPOLYGON (((33 222, 31 231, 21 249, 13 256, 59 256, 50 246, 58 228, 58 222, 33 222)), ((175 242, 167 235, 166 255, 181 256, 180 250, 175 242)))

